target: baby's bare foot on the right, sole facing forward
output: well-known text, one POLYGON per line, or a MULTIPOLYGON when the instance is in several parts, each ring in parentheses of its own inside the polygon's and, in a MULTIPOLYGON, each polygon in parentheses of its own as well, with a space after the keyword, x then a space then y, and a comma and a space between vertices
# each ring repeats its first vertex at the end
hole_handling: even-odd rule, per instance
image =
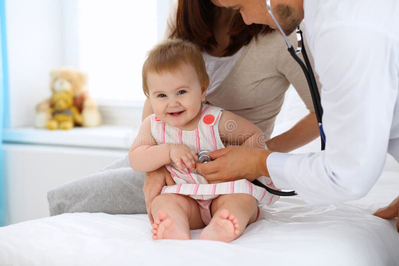
POLYGON ((217 213, 202 230, 200 239, 230 242, 239 235, 238 221, 226 209, 217 213))

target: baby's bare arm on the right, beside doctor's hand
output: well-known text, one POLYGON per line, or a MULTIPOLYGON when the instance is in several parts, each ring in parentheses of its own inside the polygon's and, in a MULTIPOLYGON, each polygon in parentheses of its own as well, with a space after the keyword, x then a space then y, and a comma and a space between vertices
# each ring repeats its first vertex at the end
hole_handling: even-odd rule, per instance
POLYGON ((220 138, 228 144, 265 147, 266 135, 250 121, 229 111, 222 111, 218 129, 220 138))

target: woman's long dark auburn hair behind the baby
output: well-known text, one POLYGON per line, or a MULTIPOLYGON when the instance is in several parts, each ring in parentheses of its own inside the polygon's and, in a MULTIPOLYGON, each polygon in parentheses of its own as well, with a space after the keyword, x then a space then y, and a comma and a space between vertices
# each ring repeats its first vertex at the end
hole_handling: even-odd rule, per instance
MULTIPOLYGON (((202 49, 209 51, 217 46, 213 35, 213 18, 218 7, 210 0, 179 0, 176 26, 170 38, 180 38, 192 41, 202 49)), ((272 31, 267 25, 246 25, 241 14, 237 12, 230 25, 230 44, 225 49, 224 56, 236 53, 242 46, 247 45, 259 33, 272 31)))

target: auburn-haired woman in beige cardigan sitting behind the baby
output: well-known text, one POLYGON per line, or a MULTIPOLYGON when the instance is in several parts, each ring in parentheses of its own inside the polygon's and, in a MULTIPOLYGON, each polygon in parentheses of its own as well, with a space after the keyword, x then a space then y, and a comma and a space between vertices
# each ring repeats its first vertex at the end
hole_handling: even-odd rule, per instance
MULTIPOLYGON (((319 135, 305 77, 277 31, 245 25, 238 12, 218 0, 179 0, 171 10, 166 37, 189 40, 202 48, 210 78, 207 102, 257 125, 266 134, 269 149, 288 152, 319 135), (290 84, 310 113, 287 132, 269 139, 290 84)), ((289 39, 296 43, 295 34, 289 39)), ((152 113, 147 100, 143 119, 152 113)), ((143 192, 152 222, 151 202, 165 184, 174 184, 165 167, 146 173, 143 192)))

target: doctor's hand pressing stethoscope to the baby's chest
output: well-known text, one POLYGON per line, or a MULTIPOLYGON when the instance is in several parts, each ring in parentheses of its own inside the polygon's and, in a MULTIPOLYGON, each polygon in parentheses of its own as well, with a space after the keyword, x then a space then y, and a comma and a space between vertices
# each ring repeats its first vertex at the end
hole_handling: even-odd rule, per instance
POLYGON ((197 163, 197 170, 209 183, 220 183, 245 178, 253 181, 261 175, 269 176, 266 158, 271 153, 263 148, 232 146, 208 154, 212 161, 197 163))

